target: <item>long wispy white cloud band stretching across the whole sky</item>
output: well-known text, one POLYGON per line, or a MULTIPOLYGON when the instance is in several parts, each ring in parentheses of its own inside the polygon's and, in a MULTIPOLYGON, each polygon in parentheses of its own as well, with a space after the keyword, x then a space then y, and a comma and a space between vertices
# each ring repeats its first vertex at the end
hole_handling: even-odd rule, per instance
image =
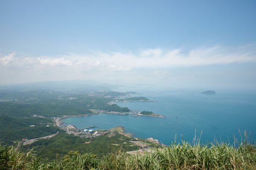
POLYGON ((9 54, 0 58, 1 65, 72 66, 86 69, 106 69, 111 71, 129 71, 133 68, 172 68, 180 66, 197 66, 229 64, 234 62, 256 62, 256 48, 230 49, 221 46, 198 48, 184 52, 182 49, 163 50, 146 49, 139 53, 95 52, 94 54, 69 54, 57 57, 15 57, 9 54))

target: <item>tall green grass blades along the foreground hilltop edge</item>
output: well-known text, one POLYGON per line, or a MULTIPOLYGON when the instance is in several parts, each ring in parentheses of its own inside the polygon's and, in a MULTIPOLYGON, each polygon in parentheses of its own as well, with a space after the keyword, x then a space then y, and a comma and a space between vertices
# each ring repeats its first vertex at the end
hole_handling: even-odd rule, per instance
POLYGON ((47 162, 35 153, 0 146, 0 169, 6 170, 256 170, 256 146, 226 143, 172 143, 152 153, 130 155, 122 150, 98 158, 70 151, 60 161, 47 162))

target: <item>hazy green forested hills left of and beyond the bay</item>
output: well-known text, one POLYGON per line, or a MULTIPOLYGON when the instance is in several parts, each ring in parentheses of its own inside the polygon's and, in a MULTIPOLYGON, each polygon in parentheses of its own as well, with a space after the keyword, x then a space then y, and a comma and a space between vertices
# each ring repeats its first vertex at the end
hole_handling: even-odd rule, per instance
POLYGON ((108 105, 119 92, 85 91, 0 91, 0 143, 14 144, 56 133, 53 117, 92 113, 89 109, 129 112, 128 108, 108 105), (30 125, 35 125, 30 127, 30 125), (49 125, 49 126, 46 126, 49 125))

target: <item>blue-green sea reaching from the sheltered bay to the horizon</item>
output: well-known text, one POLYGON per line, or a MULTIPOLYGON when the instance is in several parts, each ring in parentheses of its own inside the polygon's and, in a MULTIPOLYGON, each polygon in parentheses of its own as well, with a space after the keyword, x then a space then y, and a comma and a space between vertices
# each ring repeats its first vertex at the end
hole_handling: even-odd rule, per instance
POLYGON ((79 129, 95 125, 96 129, 109 129, 115 126, 125 127, 126 133, 135 137, 158 139, 170 144, 186 139, 192 142, 195 131, 201 136, 201 142, 218 139, 233 143, 233 135, 240 140, 240 133, 253 137, 256 142, 256 93, 255 92, 217 92, 205 95, 200 92, 138 91, 140 95, 158 102, 116 102, 121 107, 136 111, 153 111, 166 118, 130 115, 119 116, 98 114, 87 117, 69 117, 62 119, 63 125, 75 125, 79 129))

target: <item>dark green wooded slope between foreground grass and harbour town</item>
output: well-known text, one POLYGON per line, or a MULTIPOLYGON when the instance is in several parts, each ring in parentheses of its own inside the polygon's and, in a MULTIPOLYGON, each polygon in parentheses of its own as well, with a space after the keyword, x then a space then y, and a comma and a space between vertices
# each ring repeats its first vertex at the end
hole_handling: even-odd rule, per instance
POLYGON ((111 153, 112 150, 122 149, 124 151, 137 150, 138 147, 132 144, 132 139, 112 132, 109 137, 108 133, 95 138, 80 138, 79 136, 69 135, 65 132, 59 132, 58 135, 50 139, 41 139, 30 145, 21 147, 22 151, 34 148, 38 155, 45 159, 59 159, 66 155, 70 150, 77 150, 81 153, 93 153, 102 157, 111 153))

